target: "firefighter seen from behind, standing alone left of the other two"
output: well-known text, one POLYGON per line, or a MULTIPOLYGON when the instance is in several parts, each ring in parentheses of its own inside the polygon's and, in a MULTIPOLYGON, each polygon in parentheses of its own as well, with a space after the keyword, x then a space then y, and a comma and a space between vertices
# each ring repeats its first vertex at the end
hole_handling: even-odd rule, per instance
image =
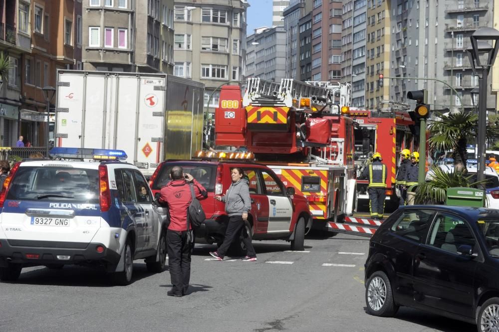
POLYGON ((369 180, 367 192, 369 193, 369 211, 371 218, 382 220, 385 211, 386 197, 386 177, 388 170, 386 165, 381 163, 383 159, 379 152, 373 154, 372 163, 364 168, 362 177, 369 180))

